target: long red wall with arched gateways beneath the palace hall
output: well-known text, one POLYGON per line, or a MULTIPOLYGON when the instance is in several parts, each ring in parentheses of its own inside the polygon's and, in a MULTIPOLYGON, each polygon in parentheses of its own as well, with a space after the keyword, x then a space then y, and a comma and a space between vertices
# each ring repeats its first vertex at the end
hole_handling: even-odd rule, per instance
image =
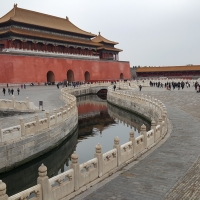
POLYGON ((18 56, 0 54, 0 83, 47 82, 47 72, 52 71, 55 81, 67 79, 67 71, 74 72, 75 81, 84 81, 84 73, 90 73, 90 80, 131 78, 129 62, 107 62, 18 56))

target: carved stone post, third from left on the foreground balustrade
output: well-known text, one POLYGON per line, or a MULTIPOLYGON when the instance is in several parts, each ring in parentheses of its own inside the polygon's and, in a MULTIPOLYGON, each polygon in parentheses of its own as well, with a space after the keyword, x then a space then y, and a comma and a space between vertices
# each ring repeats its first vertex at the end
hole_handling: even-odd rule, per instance
POLYGON ((74 152, 71 155, 71 165, 70 169, 74 170, 74 190, 77 191, 79 189, 79 173, 80 173, 80 166, 78 163, 78 155, 74 152))

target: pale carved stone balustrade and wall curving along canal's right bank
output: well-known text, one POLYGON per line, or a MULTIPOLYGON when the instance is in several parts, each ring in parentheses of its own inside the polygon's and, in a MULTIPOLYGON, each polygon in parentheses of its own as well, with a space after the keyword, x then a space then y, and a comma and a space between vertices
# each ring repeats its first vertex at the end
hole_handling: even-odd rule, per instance
MULTIPOLYGON (((76 89, 71 92, 76 92, 76 89)), ((62 95, 62 98, 66 98, 66 96, 62 95)), ((167 112, 164 104, 160 101, 141 95, 114 92, 112 87, 108 89, 108 101, 133 112, 141 112, 140 114, 147 118, 156 117, 158 125, 153 120, 151 130, 148 132, 145 125, 142 125, 141 135, 135 138, 134 132, 130 132, 129 141, 122 145, 120 145, 120 139, 116 137, 113 148, 111 147, 111 150, 104 154, 101 145, 97 144, 94 158, 82 164, 78 163, 78 155, 74 153, 71 156, 71 169, 50 179, 47 176, 47 168, 42 165, 38 169, 37 185, 11 197, 6 195, 6 185, 0 182, 0 199, 71 199, 121 169, 127 163, 137 159, 165 136, 167 112), (152 113, 155 114, 153 117, 152 113)))

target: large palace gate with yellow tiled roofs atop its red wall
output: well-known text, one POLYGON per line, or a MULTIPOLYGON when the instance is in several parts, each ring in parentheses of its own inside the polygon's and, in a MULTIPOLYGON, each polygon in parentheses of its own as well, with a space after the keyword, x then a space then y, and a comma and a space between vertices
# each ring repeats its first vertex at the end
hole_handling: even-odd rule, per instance
POLYGON ((0 18, 0 83, 129 79, 117 42, 17 4, 0 18))

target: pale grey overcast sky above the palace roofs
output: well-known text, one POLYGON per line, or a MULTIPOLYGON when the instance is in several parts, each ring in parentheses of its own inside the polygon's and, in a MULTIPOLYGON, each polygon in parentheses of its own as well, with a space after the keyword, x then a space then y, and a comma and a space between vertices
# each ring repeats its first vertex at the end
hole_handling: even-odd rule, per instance
POLYGON ((131 66, 200 64, 200 0, 1 0, 0 16, 18 7, 69 20, 119 42, 131 66))

